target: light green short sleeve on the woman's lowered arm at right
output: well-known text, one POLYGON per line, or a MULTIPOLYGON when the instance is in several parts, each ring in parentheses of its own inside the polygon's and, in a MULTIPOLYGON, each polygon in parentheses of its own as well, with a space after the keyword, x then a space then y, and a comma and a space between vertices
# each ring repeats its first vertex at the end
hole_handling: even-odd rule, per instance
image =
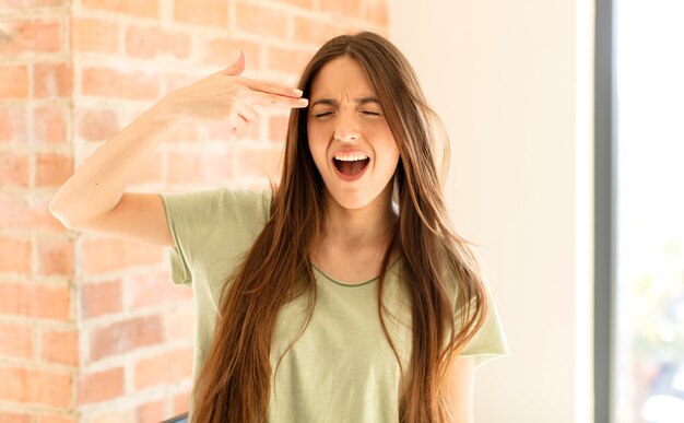
POLYGON ((480 367, 497 356, 509 355, 508 344, 494 297, 486 281, 484 284, 487 295, 487 315, 482 327, 461 352, 461 356, 475 357, 475 367, 480 367))

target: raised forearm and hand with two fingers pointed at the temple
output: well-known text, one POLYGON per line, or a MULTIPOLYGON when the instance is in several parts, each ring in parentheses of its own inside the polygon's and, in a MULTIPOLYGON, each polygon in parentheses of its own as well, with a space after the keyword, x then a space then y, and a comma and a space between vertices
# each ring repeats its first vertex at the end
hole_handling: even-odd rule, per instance
POLYGON ((240 78, 244 68, 240 50, 237 61, 225 70, 167 94, 83 163, 52 198, 52 214, 73 228, 107 215, 179 121, 221 121, 238 132, 257 119, 255 105, 307 106, 298 90, 240 78))

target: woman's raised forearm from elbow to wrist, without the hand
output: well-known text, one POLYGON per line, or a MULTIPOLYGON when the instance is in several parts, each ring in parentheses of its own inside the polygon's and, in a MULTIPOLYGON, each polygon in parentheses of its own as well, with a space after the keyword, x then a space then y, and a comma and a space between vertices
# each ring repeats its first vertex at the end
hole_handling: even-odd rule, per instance
POLYGON ((75 227, 111 211, 174 127, 164 102, 145 111, 107 140, 64 183, 50 202, 52 214, 75 227))

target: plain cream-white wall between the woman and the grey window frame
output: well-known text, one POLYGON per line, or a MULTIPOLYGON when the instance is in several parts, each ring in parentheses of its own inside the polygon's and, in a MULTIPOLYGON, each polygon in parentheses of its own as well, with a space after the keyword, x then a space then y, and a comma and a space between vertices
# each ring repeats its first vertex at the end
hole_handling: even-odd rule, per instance
POLYGON ((477 371, 475 420, 590 422, 593 3, 389 3, 451 137, 452 218, 481 246, 512 353, 477 371))

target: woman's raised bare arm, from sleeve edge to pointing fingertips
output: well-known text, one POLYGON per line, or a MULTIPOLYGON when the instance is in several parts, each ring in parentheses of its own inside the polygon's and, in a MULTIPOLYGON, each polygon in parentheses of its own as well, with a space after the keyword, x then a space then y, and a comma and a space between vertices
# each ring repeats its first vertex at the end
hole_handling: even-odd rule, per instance
POLYGON ((293 87, 240 77, 244 68, 240 52, 226 70, 167 94, 83 163, 52 198, 50 212, 73 230, 173 245, 161 197, 126 189, 178 122, 225 121, 237 133, 258 118, 255 105, 307 105, 293 87))

